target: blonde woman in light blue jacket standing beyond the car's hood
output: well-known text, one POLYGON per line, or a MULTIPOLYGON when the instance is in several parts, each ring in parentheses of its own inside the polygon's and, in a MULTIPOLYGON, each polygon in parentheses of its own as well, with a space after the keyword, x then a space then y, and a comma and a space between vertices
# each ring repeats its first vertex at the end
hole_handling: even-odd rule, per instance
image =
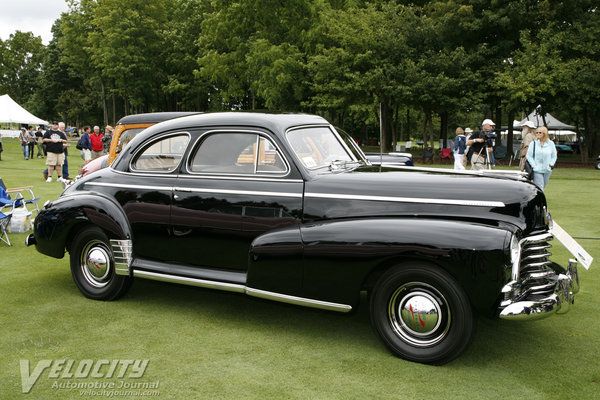
POLYGON ((544 190, 556 164, 556 147, 545 126, 535 130, 535 138, 533 145, 529 145, 527 149, 527 161, 533 168, 533 183, 544 190))

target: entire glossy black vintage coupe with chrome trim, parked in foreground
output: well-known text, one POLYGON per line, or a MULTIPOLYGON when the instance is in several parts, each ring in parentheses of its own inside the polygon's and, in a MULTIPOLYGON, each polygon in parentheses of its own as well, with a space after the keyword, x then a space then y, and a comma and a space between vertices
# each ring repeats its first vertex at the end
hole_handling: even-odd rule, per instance
POLYGON ((392 353, 443 364, 475 312, 568 310, 577 267, 549 259, 551 223, 519 173, 373 166, 323 118, 215 113, 137 135, 46 204, 28 244, 68 251, 98 300, 135 277, 339 312, 366 291, 392 353))

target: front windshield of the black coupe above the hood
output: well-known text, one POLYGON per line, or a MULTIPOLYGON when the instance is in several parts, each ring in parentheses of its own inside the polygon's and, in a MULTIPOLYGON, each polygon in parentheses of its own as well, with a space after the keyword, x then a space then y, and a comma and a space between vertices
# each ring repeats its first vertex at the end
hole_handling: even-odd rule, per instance
POLYGON ((287 139, 298 159, 309 169, 360 160, 329 127, 294 129, 288 132, 287 139))

